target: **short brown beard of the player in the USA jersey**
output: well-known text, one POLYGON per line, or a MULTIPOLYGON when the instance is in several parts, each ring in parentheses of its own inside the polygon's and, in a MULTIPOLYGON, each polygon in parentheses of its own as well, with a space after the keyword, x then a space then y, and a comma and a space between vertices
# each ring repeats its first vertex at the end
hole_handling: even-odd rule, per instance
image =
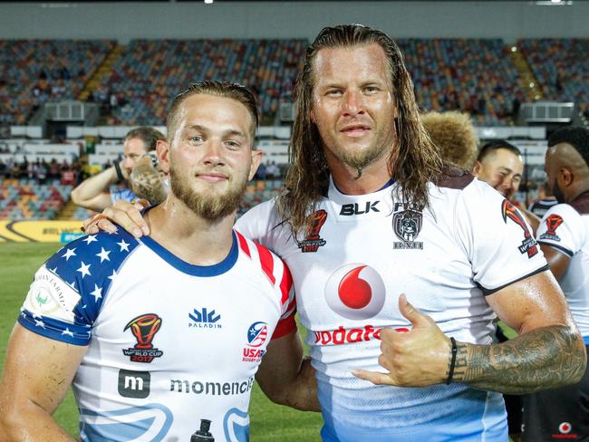
MULTIPOLYGON (((246 190, 246 179, 236 182, 223 194, 212 190, 198 193, 188 185, 188 180, 178 174, 175 168, 169 170, 169 184, 172 194, 182 201, 196 215, 209 221, 231 215, 236 211, 246 190)), ((229 184, 231 184, 229 177, 229 184)))

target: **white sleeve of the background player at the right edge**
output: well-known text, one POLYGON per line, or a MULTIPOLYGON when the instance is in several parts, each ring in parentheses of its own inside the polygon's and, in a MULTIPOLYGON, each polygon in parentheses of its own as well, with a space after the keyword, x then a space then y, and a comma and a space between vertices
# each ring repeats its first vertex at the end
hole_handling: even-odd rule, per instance
POLYGON ((547 244, 565 255, 573 256, 584 242, 581 216, 573 207, 559 204, 551 207, 536 232, 538 243, 547 244))

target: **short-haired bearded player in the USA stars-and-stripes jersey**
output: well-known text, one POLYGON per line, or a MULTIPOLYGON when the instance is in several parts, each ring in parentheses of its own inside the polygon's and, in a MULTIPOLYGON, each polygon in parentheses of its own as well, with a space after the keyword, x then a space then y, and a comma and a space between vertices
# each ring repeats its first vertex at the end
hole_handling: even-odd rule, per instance
POLYGON ((239 85, 175 99, 158 143, 171 193, 146 213, 151 236, 89 235, 35 274, 0 383, 2 440, 70 440, 52 414, 71 383, 92 441, 188 441, 201 418, 216 440, 246 441, 256 371, 297 405, 285 397, 302 366, 290 273, 232 230, 261 158, 256 124, 239 85))

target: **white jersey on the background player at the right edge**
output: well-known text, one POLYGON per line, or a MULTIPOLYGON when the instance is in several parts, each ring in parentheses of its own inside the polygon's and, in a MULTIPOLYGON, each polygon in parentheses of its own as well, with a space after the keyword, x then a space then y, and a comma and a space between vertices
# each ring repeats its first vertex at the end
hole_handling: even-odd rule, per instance
POLYGON ((550 207, 536 237, 538 243, 555 247, 571 258, 558 283, 584 342, 589 345, 589 193, 576 198, 570 206, 550 207))

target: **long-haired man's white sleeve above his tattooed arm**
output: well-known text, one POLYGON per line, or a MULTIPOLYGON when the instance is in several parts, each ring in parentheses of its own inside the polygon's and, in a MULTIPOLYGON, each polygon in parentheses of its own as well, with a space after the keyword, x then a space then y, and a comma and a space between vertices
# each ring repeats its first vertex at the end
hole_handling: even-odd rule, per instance
POLYGON ((486 183, 474 180, 462 191, 455 217, 459 243, 484 294, 547 270, 524 216, 486 183))

